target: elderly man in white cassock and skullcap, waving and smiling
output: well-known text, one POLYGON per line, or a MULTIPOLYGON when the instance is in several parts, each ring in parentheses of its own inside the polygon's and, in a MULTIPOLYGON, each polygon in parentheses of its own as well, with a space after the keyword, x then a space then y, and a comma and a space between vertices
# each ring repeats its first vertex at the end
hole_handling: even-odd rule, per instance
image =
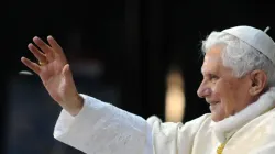
POLYGON ((202 42, 198 96, 211 113, 183 123, 147 120, 78 94, 62 47, 52 36, 29 45, 38 64, 22 63, 63 107, 54 138, 88 154, 274 154, 275 44, 263 31, 235 26, 202 42))

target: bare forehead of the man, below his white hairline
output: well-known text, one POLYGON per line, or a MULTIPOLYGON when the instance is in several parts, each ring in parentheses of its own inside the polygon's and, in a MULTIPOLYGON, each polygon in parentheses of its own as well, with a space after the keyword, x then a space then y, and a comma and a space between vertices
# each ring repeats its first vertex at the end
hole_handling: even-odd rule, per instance
POLYGON ((201 72, 217 72, 222 65, 221 47, 211 47, 205 56, 201 72))

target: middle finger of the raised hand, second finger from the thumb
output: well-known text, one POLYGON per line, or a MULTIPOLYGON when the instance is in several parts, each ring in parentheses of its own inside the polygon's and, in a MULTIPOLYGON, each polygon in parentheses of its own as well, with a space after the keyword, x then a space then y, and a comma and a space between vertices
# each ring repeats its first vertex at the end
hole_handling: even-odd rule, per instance
POLYGON ((33 42, 46 54, 46 57, 50 62, 54 59, 54 53, 51 46, 48 46, 44 41, 40 37, 35 36, 33 42))

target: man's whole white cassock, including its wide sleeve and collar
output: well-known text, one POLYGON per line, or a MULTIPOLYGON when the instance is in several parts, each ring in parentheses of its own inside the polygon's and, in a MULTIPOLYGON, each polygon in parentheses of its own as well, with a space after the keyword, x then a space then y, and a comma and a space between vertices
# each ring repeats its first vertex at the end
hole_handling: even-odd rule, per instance
POLYGON ((275 88, 218 123, 210 113, 183 123, 147 120, 81 95, 82 110, 62 111, 54 138, 87 154, 275 154, 275 88))

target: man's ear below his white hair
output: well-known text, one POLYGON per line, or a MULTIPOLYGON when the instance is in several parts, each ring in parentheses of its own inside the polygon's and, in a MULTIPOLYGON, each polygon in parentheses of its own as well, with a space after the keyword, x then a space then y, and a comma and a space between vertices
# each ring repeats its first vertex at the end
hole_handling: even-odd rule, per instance
POLYGON ((266 73, 263 70, 253 70, 250 74, 250 77, 251 77, 250 94, 251 96, 257 96, 266 87, 266 84, 267 84, 266 73))

